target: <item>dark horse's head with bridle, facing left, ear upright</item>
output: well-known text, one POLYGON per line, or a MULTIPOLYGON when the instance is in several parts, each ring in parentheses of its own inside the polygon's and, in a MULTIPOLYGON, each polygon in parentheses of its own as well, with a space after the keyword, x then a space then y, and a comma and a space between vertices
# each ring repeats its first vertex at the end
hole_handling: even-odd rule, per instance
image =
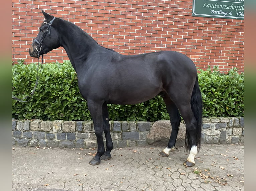
POLYGON ((39 28, 37 37, 33 40, 32 45, 29 48, 29 55, 31 57, 39 58, 40 55, 58 48, 59 35, 56 31, 55 17, 42 11, 44 15, 44 22, 39 28))

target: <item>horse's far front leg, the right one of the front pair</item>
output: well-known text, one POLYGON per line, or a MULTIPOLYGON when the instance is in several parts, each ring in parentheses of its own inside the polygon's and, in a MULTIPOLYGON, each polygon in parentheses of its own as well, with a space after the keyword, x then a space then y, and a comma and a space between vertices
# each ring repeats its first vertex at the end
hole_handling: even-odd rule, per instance
POLYGON ((102 160, 108 160, 111 158, 111 150, 113 149, 113 142, 110 135, 110 128, 109 128, 109 115, 108 115, 108 106, 107 103, 103 103, 102 105, 102 116, 103 116, 103 131, 106 137, 106 151, 104 155, 101 156, 102 160))

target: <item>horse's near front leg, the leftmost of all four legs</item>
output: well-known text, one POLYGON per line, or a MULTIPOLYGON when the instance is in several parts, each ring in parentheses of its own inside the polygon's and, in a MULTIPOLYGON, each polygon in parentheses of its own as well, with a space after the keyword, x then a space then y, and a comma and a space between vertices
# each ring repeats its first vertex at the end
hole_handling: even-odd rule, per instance
POLYGON ((93 125, 95 135, 97 137, 98 150, 97 154, 89 162, 90 165, 98 165, 101 162, 101 156, 104 154, 104 142, 103 142, 103 116, 102 116, 102 103, 88 101, 88 109, 90 110, 91 116, 93 118, 93 125))

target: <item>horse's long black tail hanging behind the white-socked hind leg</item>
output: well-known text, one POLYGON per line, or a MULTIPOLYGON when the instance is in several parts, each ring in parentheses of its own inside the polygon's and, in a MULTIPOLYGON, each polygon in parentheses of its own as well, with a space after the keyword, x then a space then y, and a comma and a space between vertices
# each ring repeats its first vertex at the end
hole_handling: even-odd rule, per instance
MULTIPOLYGON (((202 126, 202 110, 203 110, 203 104, 202 104, 202 95, 198 84, 198 76, 194 85, 194 89, 191 95, 190 99, 191 109, 193 111, 193 114, 197 120, 196 124, 196 144, 198 151, 200 150, 201 146, 201 126, 202 126)), ((190 144, 189 144, 189 133, 186 130, 185 135, 185 150, 190 150, 190 144)))

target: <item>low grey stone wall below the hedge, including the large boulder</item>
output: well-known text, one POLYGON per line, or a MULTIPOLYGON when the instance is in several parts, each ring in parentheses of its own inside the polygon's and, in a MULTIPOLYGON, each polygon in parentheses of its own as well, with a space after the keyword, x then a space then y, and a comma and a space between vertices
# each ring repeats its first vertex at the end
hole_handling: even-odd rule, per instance
MULTIPOLYGON (((170 121, 111 121, 114 147, 145 146, 168 142, 170 121)), ((185 138, 181 121, 177 140, 185 138)), ((103 136, 104 137, 104 136, 103 136)), ((203 118, 202 144, 244 142, 244 117, 203 118)), ((12 144, 19 146, 93 148, 97 147, 92 121, 12 120, 12 144)))

